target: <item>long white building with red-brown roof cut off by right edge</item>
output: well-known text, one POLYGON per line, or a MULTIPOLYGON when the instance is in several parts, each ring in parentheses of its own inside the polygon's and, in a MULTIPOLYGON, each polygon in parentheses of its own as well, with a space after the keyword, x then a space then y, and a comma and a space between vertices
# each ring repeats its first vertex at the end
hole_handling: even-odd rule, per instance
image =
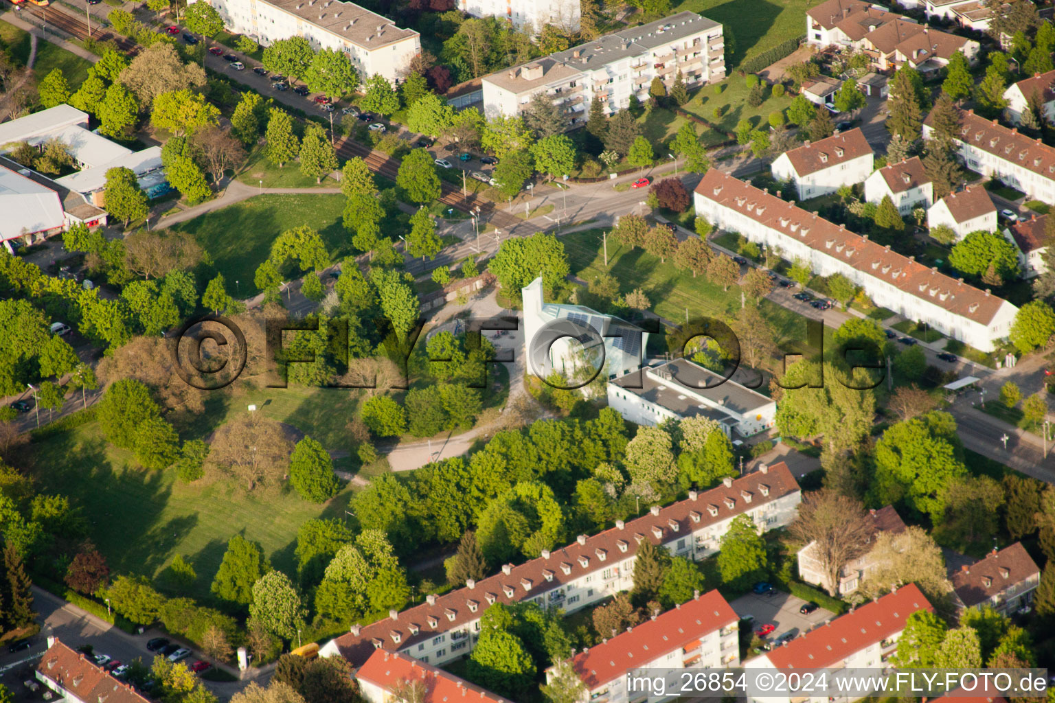
MULTIPOLYGON (((923 138, 934 134, 932 112, 923 120, 923 138)), ((964 165, 998 178, 1030 198, 1055 202, 1055 149, 1008 129, 997 120, 960 111, 960 130, 953 140, 964 165)))

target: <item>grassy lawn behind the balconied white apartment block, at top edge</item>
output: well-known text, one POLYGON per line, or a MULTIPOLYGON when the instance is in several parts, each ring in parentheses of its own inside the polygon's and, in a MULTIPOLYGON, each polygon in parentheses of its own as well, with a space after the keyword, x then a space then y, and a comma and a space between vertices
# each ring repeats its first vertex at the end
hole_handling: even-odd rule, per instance
POLYGON ((726 39, 726 69, 731 74, 744 59, 805 34, 803 18, 816 4, 816 0, 683 0, 671 14, 689 9, 721 22, 735 44, 730 54, 726 39))

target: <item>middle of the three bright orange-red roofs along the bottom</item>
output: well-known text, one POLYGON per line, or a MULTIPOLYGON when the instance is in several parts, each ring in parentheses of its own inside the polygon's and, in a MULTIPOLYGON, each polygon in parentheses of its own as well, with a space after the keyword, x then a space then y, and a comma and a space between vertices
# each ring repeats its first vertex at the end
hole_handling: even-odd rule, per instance
POLYGON ((572 667, 593 690, 675 649, 691 650, 703 638, 737 620, 722 594, 712 590, 583 650, 572 658, 572 667))

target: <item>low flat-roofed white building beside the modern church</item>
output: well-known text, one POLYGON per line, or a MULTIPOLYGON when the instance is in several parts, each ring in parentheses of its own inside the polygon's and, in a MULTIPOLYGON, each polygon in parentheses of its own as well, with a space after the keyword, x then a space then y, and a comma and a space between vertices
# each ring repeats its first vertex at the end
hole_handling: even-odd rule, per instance
POLYGON ((725 380, 698 364, 676 358, 610 380, 608 405, 638 425, 704 416, 715 421, 729 438, 735 438, 733 431, 749 437, 773 426, 776 403, 737 383, 737 375, 747 380, 748 373, 741 370, 725 380))

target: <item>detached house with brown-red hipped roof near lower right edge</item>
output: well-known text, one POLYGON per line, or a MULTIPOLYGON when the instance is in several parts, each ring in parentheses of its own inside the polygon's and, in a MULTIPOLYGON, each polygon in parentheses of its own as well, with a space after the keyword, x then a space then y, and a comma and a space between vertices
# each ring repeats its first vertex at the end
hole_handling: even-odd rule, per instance
POLYGON ((1040 569, 1021 542, 985 559, 963 565, 953 573, 953 605, 959 612, 968 608, 992 606, 997 612, 1014 614, 1033 603, 1033 591, 1040 585, 1040 569))

